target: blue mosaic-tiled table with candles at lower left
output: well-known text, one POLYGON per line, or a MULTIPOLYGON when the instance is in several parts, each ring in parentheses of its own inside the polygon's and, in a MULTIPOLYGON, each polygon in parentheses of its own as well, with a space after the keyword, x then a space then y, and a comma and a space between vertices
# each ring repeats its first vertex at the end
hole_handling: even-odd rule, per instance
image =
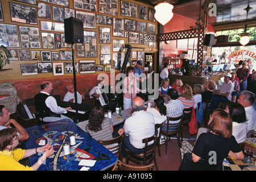
MULTIPOLYGON (((45 140, 48 142, 47 132, 53 131, 52 137, 52 146, 55 150, 55 153, 47 158, 45 164, 38 169, 39 171, 49 171, 49 163, 53 162, 53 159, 61 148, 61 144, 63 143, 65 137, 65 141, 70 142, 69 134, 76 134, 76 145, 71 146, 71 154, 64 155, 63 148, 61 149, 61 153, 57 162, 59 165, 65 165, 67 171, 78 171, 83 166, 79 166, 79 162, 82 159, 86 160, 96 160, 94 166, 89 167, 89 170, 92 171, 100 171, 108 169, 109 167, 114 166, 117 162, 117 156, 115 156, 112 152, 106 149, 102 144, 98 143, 95 139, 90 137, 88 133, 81 130, 75 123, 71 122, 68 119, 62 119, 57 122, 49 122, 44 125, 37 125, 33 127, 29 127, 26 129, 30 138, 24 142, 26 149, 41 147, 39 145, 40 142, 45 140)), ((42 154, 35 154, 29 157, 31 165, 35 164, 42 154)))

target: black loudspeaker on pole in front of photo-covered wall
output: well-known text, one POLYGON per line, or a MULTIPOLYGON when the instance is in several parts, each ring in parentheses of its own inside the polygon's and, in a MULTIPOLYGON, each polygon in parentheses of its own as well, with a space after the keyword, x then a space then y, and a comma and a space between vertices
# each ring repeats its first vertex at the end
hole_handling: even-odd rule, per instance
POLYGON ((84 23, 82 20, 70 17, 64 19, 65 43, 84 43, 84 23))

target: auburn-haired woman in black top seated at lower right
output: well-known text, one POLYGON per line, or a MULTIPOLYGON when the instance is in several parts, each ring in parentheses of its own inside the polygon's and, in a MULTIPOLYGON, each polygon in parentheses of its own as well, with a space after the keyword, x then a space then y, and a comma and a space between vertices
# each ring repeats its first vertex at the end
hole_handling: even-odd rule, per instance
POLYGON ((223 160, 227 156, 244 159, 241 147, 232 135, 232 118, 226 111, 214 110, 209 120, 209 128, 211 132, 201 134, 194 147, 184 140, 179 171, 221 171, 223 160), (216 164, 209 163, 212 157, 209 152, 212 151, 217 154, 216 164))

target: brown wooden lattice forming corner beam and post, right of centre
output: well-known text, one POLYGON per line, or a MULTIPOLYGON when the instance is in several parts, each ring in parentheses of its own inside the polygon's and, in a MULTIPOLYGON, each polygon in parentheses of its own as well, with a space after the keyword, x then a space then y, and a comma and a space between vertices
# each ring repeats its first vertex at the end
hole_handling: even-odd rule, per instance
POLYGON ((204 50, 204 35, 205 35, 204 28, 201 28, 199 30, 183 30, 183 31, 158 34, 157 41, 161 42, 166 40, 198 38, 196 75, 201 76, 202 70, 203 70, 202 64, 203 64, 203 50, 204 50))

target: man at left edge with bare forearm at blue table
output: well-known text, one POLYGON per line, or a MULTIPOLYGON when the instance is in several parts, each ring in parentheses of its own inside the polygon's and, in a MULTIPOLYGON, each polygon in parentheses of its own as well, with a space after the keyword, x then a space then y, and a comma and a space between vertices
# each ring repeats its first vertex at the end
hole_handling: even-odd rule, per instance
POLYGON ((16 122, 15 119, 10 119, 10 113, 4 105, 0 105, 0 130, 9 128, 10 125, 16 129, 19 136, 19 141, 24 141, 29 138, 27 131, 16 122))

